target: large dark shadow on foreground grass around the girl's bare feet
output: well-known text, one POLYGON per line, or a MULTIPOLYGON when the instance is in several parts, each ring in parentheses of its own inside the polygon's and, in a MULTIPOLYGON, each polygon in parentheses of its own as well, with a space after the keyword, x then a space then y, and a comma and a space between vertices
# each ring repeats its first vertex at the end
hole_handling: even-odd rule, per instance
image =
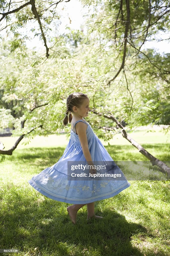
MULTIPOLYGON (((103 216, 102 220, 87 221, 87 213, 78 212, 77 223, 73 225, 66 203, 37 197, 28 187, 14 184, 4 187, 3 191, 1 248, 19 248, 20 255, 27 252, 27 255, 142 256, 144 254, 131 243, 132 235, 140 233, 154 238, 145 227, 127 222, 115 210, 106 209, 101 214, 99 202, 95 203, 95 210, 96 215, 103 216)), ((156 254, 148 249, 145 255, 156 254)))

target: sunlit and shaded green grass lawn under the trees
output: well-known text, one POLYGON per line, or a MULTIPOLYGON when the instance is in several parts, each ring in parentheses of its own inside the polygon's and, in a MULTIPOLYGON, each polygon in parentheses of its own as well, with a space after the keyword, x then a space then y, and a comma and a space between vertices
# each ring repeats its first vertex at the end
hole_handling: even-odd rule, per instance
MULTIPOLYGON (((169 161, 169 137, 157 131, 146 138, 144 133, 130 136, 155 157, 169 161)), ((102 141, 115 161, 147 160, 119 134, 116 137, 110 145, 102 141)), ((7 149, 16 138, 0 140, 7 149)), ((20 144, 12 156, 0 155, 0 248, 18 248, 19 255, 28 256, 169 255, 168 180, 129 180, 129 188, 95 203, 96 215, 104 219, 87 222, 84 206, 76 225, 67 215, 70 204, 47 198, 28 184, 33 175, 58 161, 67 143, 66 134, 37 136, 29 145, 20 144)))

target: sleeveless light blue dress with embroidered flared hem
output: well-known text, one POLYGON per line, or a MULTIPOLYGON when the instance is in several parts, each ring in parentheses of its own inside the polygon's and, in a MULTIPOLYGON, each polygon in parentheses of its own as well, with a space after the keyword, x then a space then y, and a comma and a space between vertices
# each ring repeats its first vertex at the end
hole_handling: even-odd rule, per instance
MULTIPOLYGON (((77 122, 83 122, 88 126, 86 134, 92 161, 113 161, 89 123, 81 119, 73 123, 74 128, 70 131, 69 143, 58 162, 34 175, 28 183, 43 195, 70 204, 88 204, 110 198, 128 188, 130 183, 126 178, 123 180, 114 178, 110 178, 110 180, 109 178, 105 178, 105 180, 98 178, 68 180, 68 161, 86 161, 79 136, 74 132, 77 122)), ((119 173, 122 173, 120 168, 115 166, 119 169, 119 173)))

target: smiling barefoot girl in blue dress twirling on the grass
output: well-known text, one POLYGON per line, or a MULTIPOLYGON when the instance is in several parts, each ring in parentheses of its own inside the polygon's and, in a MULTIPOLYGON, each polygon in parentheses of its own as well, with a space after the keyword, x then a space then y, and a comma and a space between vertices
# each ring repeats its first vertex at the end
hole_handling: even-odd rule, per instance
MULTIPOLYGON (((89 98, 86 94, 74 92, 69 95, 66 116, 63 120, 63 125, 68 124, 68 119, 71 123, 69 143, 57 163, 34 175, 28 181, 33 188, 43 195, 57 201, 73 204, 67 207, 67 211, 74 224, 76 223, 77 211, 86 204, 87 220, 89 218, 102 218, 95 215, 95 201, 113 197, 130 186, 125 178, 124 180, 105 179, 102 181, 95 178, 68 180, 68 161, 80 161, 80 163, 87 161, 89 165, 92 164, 93 166, 94 161, 113 161, 89 123, 84 119, 88 116, 89 110, 89 98)), ((118 166, 116 167, 119 169, 118 166)), ((120 169, 119 171, 122 173, 120 169)), ((74 173, 80 173, 80 170, 74 170, 74 173)), ((93 175, 96 170, 92 167, 89 169, 89 173, 93 175)))

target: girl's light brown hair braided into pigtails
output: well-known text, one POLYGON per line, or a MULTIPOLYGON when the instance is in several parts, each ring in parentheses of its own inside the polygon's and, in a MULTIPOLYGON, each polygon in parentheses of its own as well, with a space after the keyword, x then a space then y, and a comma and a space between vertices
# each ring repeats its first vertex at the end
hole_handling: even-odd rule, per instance
POLYGON ((76 106, 77 108, 80 108, 80 106, 82 105, 83 101, 88 99, 87 94, 81 93, 81 92, 73 92, 69 95, 69 97, 67 98, 67 111, 66 111, 66 115, 63 119, 63 125, 67 125, 68 124, 68 120, 69 123, 71 123, 71 120, 73 118, 72 113, 73 113, 73 106, 76 106), (69 113, 72 112, 72 113, 69 113))

